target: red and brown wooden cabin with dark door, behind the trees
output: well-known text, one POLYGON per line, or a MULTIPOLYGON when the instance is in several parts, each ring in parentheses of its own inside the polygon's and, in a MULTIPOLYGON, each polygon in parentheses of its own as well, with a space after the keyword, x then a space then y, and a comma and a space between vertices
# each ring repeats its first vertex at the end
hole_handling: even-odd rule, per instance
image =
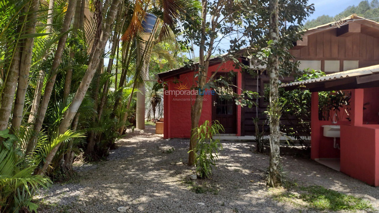
MULTIPOLYGON (((379 23, 352 15, 307 30, 303 40, 297 41, 290 51, 295 57, 294 61, 300 61, 301 70, 311 68, 334 73, 379 64, 379 23)), ((265 85, 269 83, 265 69, 258 70, 259 74, 252 77, 240 69, 235 69, 232 61, 219 66, 220 63, 222 62, 217 58, 211 60, 209 75, 217 69, 218 73, 233 70, 238 88, 257 91, 263 95, 265 85)), ((168 83, 169 91, 190 90, 196 83, 194 72, 193 69, 182 67, 160 73, 158 79, 168 83)), ((288 77, 281 80, 286 83, 294 79, 288 77)), ((240 91, 241 89, 237 89, 236 92, 240 91)), ((194 96, 190 94, 164 94, 164 138, 189 138, 191 98, 194 96)), ((241 108, 230 102, 218 101, 217 97, 207 94, 204 96, 200 124, 205 120, 217 119, 226 127, 229 136, 240 139, 241 136, 253 136, 253 117, 258 115, 261 124, 265 122, 266 116, 262 113, 266 111, 268 104, 263 97, 254 101, 258 103, 257 108, 241 108)), ((286 121, 282 121, 284 122, 286 121)))

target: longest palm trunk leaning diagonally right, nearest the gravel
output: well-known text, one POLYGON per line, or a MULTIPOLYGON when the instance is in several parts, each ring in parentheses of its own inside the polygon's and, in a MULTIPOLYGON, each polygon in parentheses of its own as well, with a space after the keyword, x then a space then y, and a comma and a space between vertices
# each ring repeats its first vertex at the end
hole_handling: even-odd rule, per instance
MULTIPOLYGON (((86 70, 86 73, 84 74, 84 77, 82 81, 80 82, 79 88, 77 89, 77 92, 75 93, 74 99, 72 100, 72 103, 67 110, 66 116, 64 116, 63 121, 61 122, 59 126, 59 133, 62 134, 67 131, 69 128, 72 120, 74 119, 75 114, 78 111, 78 108, 80 107, 81 102, 84 99, 84 96, 88 90, 89 85, 91 84, 92 78, 96 72, 97 66, 99 66, 100 57, 104 53, 106 42, 108 41, 109 34, 112 29, 112 25, 114 22, 114 19, 116 18, 117 11, 119 9, 119 4, 121 0, 113 0, 111 7, 108 11, 108 14, 106 16, 105 21, 105 27, 102 31, 102 34, 100 36, 100 40, 98 44, 96 45, 96 49, 94 51, 94 55, 91 58, 91 61, 89 62, 88 68, 86 70)), ((52 151, 47 155, 45 159, 44 166, 42 169, 38 171, 38 174, 43 175, 50 165, 51 161, 53 160, 56 151, 58 151, 60 144, 57 144, 52 151)))

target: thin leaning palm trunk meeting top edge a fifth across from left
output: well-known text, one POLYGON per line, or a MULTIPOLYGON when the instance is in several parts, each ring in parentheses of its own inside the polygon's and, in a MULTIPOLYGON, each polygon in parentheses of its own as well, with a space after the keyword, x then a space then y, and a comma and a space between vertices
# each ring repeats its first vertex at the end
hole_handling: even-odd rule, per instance
POLYGON ((51 77, 47 81, 47 84, 45 86, 45 94, 44 94, 44 97, 42 99, 42 103, 40 105, 39 111, 38 111, 37 122, 34 125, 35 135, 30 139, 30 141, 27 145, 27 150, 26 150, 27 152, 26 153, 31 153, 31 151, 36 146, 36 141, 37 141, 36 137, 37 137, 38 133, 41 131, 42 123, 45 119, 47 106, 49 105, 50 97, 51 97, 53 87, 55 84, 56 72, 58 71, 59 65, 61 64, 61 61, 62 61, 63 49, 66 45, 66 40, 67 40, 67 31, 70 28, 70 23, 71 23, 72 15, 74 14, 76 2, 77 1, 69 1, 69 5, 67 7, 66 15, 64 16, 63 27, 61 30, 61 38, 58 41, 58 47, 55 50, 52 69, 50 70, 51 77))

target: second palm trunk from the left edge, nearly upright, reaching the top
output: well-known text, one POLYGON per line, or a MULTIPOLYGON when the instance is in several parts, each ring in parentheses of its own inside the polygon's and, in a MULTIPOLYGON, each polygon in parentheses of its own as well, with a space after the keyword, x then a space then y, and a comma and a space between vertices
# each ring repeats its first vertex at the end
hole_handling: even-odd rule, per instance
MULTIPOLYGON (((31 22, 28 23, 25 32, 26 34, 34 34, 36 32, 38 7, 39 0, 33 0, 33 2, 31 2, 28 15, 28 20, 31 22)), ((17 83, 16 100, 14 102, 13 116, 11 121, 11 133, 17 132, 21 125, 23 109, 25 105, 25 94, 29 81, 33 45, 34 37, 24 39, 19 70, 19 80, 17 83)))

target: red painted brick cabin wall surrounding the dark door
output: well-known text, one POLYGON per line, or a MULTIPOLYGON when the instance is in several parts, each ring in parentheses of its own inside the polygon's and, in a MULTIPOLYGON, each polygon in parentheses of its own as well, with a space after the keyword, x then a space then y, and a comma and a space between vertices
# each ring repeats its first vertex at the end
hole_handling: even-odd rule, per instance
MULTIPOLYGON (((233 62, 228 61, 221 66, 219 64, 209 67, 208 77, 213 72, 229 72, 233 70, 237 74, 237 92, 241 93, 242 75, 240 69, 235 69, 233 62)), ((168 90, 178 90, 177 88, 182 85, 186 88, 191 88, 196 85, 194 80, 194 72, 182 74, 177 78, 169 78, 165 80, 168 84, 168 90)), ((165 91, 164 91, 165 92, 165 91)), ((195 96, 191 95, 163 95, 164 104, 164 138, 189 138, 191 130, 191 105, 194 103, 195 96)), ((210 94, 203 96, 203 109, 200 117, 199 124, 204 121, 212 120, 212 96, 210 94)), ((241 133, 241 106, 237 106, 237 136, 241 133)))

